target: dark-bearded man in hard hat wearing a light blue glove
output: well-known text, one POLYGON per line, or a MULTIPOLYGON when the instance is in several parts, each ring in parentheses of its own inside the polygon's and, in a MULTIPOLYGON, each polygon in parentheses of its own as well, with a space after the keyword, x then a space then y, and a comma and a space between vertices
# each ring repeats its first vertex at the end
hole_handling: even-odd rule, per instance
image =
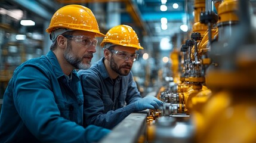
POLYGON ((88 70, 79 70, 84 92, 84 122, 114 128, 132 112, 158 109, 163 102, 153 96, 141 98, 132 77, 132 64, 143 49, 132 27, 112 27, 101 42, 104 57, 88 70))

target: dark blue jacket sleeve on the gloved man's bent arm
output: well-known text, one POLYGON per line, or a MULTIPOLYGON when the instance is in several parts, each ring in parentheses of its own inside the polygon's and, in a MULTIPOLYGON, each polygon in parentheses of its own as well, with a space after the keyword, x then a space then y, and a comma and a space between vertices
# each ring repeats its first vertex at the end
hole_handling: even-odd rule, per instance
POLYGON ((81 83, 84 92, 84 122, 87 125, 112 129, 132 112, 137 111, 135 104, 129 104, 115 111, 105 111, 101 95, 103 79, 94 74, 82 74, 81 83), (92 76, 93 75, 93 76, 92 76))

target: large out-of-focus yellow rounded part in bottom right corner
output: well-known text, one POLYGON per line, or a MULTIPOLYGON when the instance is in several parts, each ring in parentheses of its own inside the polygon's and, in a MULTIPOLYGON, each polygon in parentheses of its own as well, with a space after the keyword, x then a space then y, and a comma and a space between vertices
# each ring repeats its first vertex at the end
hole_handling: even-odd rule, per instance
POLYGON ((223 90, 212 96, 202 114, 193 116, 196 142, 255 142, 254 92, 223 90))

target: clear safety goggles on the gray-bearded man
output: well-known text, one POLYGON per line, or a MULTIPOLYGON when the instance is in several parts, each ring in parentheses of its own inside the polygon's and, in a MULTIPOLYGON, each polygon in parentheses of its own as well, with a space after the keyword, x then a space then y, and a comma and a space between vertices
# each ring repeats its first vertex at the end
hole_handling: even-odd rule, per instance
POLYGON ((65 38, 75 41, 76 43, 84 46, 85 48, 90 48, 92 45, 95 47, 98 40, 95 38, 89 38, 84 35, 63 35, 65 38))

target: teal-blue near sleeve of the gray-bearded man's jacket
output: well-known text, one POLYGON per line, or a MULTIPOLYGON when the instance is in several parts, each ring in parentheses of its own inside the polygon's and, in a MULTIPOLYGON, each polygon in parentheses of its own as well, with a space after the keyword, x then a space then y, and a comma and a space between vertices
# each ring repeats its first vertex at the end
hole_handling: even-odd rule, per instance
POLYGON ((95 142, 109 133, 97 126, 84 128, 60 116, 49 71, 24 66, 13 82, 14 105, 27 129, 41 142, 95 142))

